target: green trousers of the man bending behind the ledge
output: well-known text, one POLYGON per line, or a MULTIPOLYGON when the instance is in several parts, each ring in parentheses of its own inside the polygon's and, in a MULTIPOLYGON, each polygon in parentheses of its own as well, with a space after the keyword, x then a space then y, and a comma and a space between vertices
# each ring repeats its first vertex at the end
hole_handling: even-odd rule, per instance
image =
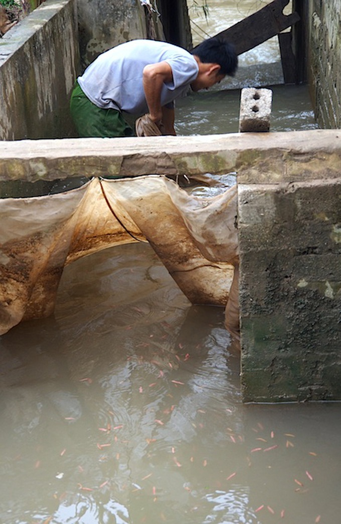
POLYGON ((71 94, 70 112, 79 137, 135 135, 119 111, 97 107, 83 93, 77 81, 71 94))

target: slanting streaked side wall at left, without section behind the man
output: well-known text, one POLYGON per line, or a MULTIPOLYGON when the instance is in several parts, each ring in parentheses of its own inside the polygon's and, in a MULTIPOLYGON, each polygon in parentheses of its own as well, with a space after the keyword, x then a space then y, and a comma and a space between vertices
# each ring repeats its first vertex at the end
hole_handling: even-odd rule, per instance
POLYGON ((69 136, 79 71, 75 0, 46 0, 0 40, 0 139, 69 136))

